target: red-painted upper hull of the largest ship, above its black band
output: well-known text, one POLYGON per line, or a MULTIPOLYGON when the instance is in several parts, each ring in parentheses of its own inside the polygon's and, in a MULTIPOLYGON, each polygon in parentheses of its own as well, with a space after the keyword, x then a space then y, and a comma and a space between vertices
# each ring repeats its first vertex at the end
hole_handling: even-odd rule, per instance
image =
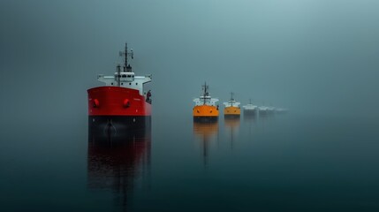
POLYGON ((87 90, 88 116, 151 116, 151 104, 138 90, 126 87, 94 87, 87 90))

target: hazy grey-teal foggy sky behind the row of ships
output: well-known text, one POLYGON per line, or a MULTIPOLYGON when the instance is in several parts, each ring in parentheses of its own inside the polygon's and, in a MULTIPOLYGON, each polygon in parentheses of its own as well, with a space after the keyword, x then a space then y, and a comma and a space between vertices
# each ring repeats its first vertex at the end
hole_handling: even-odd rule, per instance
POLYGON ((221 102, 233 91, 242 103, 378 116, 378 9, 375 0, 3 0, 0 95, 11 101, 1 115, 85 119, 87 88, 115 71, 128 42, 134 71, 153 74, 155 114, 190 114, 206 80, 221 102))

